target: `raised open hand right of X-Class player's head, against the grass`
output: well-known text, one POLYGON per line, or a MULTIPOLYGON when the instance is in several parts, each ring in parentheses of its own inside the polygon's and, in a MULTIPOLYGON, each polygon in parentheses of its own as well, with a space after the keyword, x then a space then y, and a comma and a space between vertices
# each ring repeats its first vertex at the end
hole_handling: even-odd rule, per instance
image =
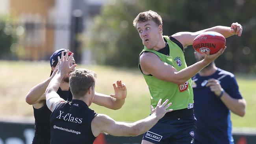
POLYGON ((127 96, 127 90, 125 84, 122 81, 117 81, 113 83, 113 88, 115 90, 115 94, 110 94, 113 98, 116 99, 124 99, 127 96))

